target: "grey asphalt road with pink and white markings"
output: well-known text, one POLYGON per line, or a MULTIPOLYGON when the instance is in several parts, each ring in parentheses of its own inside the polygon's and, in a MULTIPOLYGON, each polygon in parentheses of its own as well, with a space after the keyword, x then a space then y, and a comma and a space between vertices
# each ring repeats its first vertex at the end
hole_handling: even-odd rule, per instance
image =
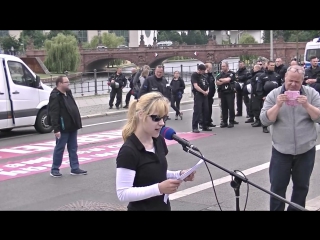
MULTIPOLYGON (((190 140, 203 155, 230 171, 243 171, 247 178, 269 190, 268 162, 270 135, 261 128, 244 123, 245 117, 232 129, 213 128, 212 132, 190 133, 192 105, 183 105, 184 119, 167 122, 177 134, 190 140), (194 139, 199 137, 198 139, 194 139)), ((213 108, 214 122, 218 124, 219 108, 213 108)), ((33 128, 13 130, 0 134, 0 210, 121 210, 115 192, 115 156, 121 146, 121 127, 126 115, 84 119, 79 131, 79 157, 86 176, 71 176, 65 158, 62 178, 49 176, 53 134, 38 134, 33 128)), ((182 150, 181 145, 169 141, 169 169, 187 169, 199 159, 182 150)), ((319 144, 319 142, 318 142, 319 144)), ((310 183, 308 200, 320 196, 319 154, 310 183)), ((235 210, 235 194, 231 177, 223 170, 208 165, 223 211, 235 210)), ((241 184, 240 207, 244 208, 247 185, 241 184)), ((291 184, 287 196, 290 197, 291 184)), ((194 182, 183 183, 170 196, 173 210, 219 210, 208 170, 203 164, 197 170, 194 182)), ((313 201, 314 202, 314 201, 313 201)), ((320 202, 320 201, 318 201, 320 202)), ((269 195, 249 186, 246 210, 269 210, 269 195)))

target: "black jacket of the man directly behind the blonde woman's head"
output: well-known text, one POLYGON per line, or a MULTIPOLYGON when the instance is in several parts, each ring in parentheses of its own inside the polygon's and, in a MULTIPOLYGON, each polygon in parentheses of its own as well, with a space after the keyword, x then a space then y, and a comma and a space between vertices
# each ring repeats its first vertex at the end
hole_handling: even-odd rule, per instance
POLYGON ((139 98, 149 92, 160 92, 168 99, 171 98, 171 88, 167 86, 168 81, 165 77, 157 78, 155 75, 147 77, 139 91, 139 98))

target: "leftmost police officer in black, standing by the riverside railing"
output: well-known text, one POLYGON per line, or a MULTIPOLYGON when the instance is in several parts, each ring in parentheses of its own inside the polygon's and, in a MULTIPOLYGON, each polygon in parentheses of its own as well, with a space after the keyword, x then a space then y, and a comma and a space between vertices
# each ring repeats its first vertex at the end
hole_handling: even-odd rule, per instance
POLYGON ((122 68, 117 68, 114 76, 109 78, 109 85, 111 86, 109 109, 113 108, 114 98, 117 96, 116 108, 120 109, 120 104, 122 101, 122 89, 127 85, 127 79, 122 74, 122 68))

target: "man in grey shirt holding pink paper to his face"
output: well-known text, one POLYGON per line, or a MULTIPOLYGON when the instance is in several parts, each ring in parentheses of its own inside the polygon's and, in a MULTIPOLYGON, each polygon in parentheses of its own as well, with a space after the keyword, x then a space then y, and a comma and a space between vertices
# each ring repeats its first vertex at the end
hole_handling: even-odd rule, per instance
MULTIPOLYGON (((291 202, 305 207, 309 182, 313 170, 320 123, 319 93, 302 86, 304 69, 290 66, 281 87, 272 90, 260 113, 264 126, 270 126, 272 154, 269 167, 271 192, 285 198, 292 176, 291 202), (292 92, 300 92, 296 99, 292 92)), ((283 211, 285 203, 270 198, 271 211, 283 211)), ((295 210, 288 207, 289 210, 295 210)))

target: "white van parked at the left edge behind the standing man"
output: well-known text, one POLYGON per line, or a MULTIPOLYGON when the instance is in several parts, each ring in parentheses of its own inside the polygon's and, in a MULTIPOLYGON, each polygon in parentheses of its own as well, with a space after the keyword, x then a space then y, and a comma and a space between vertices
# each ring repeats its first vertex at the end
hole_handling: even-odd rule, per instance
POLYGON ((34 126, 39 133, 52 132, 47 125, 52 89, 20 58, 0 54, 0 61, 0 131, 34 126))

